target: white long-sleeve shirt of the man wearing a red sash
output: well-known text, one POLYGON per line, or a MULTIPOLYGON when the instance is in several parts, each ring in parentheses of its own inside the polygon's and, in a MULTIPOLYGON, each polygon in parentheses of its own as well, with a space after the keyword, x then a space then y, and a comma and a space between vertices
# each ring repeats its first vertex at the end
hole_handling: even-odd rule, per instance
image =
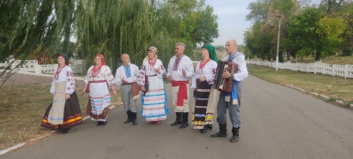
POLYGON ((177 56, 173 56, 169 60, 167 77, 170 76, 173 81, 187 81, 193 77, 194 64, 191 59, 184 55, 179 61, 179 65, 174 66, 176 60, 177 56), (183 76, 183 69, 186 71, 186 76, 183 76))

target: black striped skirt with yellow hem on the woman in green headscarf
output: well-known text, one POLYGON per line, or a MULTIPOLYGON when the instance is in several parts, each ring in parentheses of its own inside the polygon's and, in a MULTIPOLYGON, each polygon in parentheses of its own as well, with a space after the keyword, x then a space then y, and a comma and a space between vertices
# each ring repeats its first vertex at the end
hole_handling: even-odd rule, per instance
POLYGON ((203 129, 204 125, 213 123, 213 114, 216 108, 217 91, 212 84, 200 82, 196 89, 195 105, 192 112, 194 129, 203 129))

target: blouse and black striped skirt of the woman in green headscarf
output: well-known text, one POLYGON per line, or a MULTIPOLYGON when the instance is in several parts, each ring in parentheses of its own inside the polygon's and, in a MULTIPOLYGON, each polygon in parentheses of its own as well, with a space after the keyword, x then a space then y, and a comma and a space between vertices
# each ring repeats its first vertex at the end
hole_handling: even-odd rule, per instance
POLYGON ((196 89, 195 105, 192 110, 192 123, 194 129, 203 129, 204 125, 213 123, 214 110, 216 108, 217 91, 212 88, 215 78, 217 63, 208 59, 205 63, 199 61, 196 72, 192 78, 191 88, 196 89), (201 77, 206 77, 206 81, 199 82, 201 77))

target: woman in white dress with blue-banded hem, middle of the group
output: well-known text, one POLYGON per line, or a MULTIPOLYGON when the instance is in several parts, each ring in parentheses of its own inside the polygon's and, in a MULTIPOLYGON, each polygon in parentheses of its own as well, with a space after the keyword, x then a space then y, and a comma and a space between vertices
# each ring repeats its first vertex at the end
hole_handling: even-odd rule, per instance
POLYGON ((143 60, 138 79, 141 90, 144 92, 141 97, 141 115, 146 118, 148 124, 159 124, 161 120, 167 119, 169 114, 163 82, 166 71, 162 62, 157 59, 157 55, 156 47, 148 48, 147 57, 143 60))

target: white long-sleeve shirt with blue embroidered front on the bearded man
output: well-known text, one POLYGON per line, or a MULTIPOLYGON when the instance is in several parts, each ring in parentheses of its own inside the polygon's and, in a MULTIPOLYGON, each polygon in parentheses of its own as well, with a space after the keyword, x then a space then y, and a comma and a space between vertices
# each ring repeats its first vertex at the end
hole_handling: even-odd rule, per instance
POLYGON ((134 64, 130 64, 130 73, 131 73, 131 77, 127 77, 126 72, 125 72, 125 66, 122 65, 119 68, 116 69, 116 73, 115 73, 115 83, 117 85, 122 85, 123 82, 123 78, 124 80, 128 81, 128 83, 132 83, 132 82, 136 82, 137 78, 139 77, 139 67, 137 67, 134 64))

